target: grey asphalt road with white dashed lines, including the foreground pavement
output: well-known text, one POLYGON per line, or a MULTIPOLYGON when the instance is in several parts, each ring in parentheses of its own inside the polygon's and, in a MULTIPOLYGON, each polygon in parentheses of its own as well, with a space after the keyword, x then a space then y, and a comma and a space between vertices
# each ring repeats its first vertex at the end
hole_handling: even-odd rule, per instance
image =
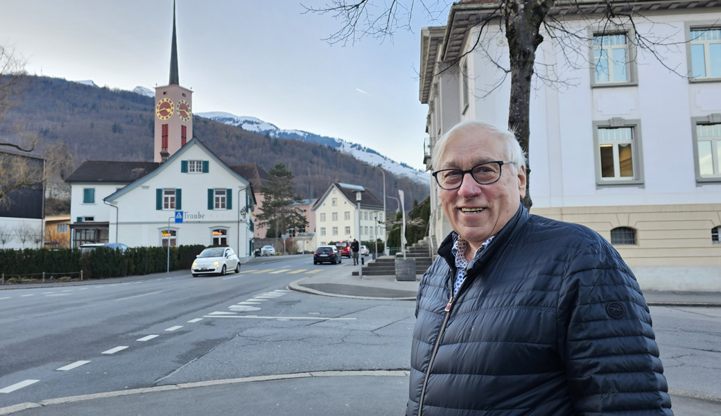
MULTIPOLYGON (((407 370, 412 301, 286 290, 309 273, 345 270, 336 267, 353 266, 315 266, 311 257, 291 257, 244 265, 241 274, 223 277, 174 273, 2 290, 0 407, 253 376, 407 370)), ((721 309, 652 307, 651 312, 676 415, 721 415, 721 402, 703 399, 721 396, 721 309)), ((19 415, 404 411, 407 377, 339 374, 106 397, 19 415)))

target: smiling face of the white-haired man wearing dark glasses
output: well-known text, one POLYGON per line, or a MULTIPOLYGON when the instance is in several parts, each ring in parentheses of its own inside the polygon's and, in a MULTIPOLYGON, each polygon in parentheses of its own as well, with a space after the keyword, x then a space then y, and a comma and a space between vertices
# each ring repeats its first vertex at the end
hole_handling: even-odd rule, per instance
MULTIPOLYGON (((471 169, 485 161, 508 160, 505 141, 485 131, 459 132, 448 138, 438 169, 471 169)), ((469 243, 473 251, 490 236, 503 229, 518 211, 526 195, 526 167, 504 164, 498 182, 478 183, 466 174, 461 187, 438 188, 438 199, 451 227, 469 243)), ((466 252, 467 253, 467 252, 466 252)))

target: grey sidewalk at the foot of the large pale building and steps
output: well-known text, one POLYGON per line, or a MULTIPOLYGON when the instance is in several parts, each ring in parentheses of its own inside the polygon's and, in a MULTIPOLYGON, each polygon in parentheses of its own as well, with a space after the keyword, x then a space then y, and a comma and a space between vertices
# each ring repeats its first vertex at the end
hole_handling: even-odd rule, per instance
MULTIPOLYGON (((367 264, 367 263, 366 263, 367 264)), ((290 285, 293 291, 343 298, 415 301, 420 278, 415 282, 396 281, 394 275, 353 276, 358 270, 353 261, 329 266, 317 275, 296 280, 290 285)), ((706 306, 721 307, 721 292, 643 291, 648 306, 706 306)))

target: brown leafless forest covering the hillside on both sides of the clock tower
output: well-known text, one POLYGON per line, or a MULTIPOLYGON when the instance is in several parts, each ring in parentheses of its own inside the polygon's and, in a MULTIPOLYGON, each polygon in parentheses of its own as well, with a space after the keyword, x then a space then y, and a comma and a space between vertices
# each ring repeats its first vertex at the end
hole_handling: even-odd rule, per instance
MULTIPOLYGON (((20 126, 43 143, 65 141, 84 160, 151 161, 154 99, 120 89, 64 79, 29 76, 22 100, 3 121, 0 137, 17 141, 9 126, 20 126)), ((296 191, 318 198, 332 182, 348 182, 383 195, 380 169, 335 148, 293 139, 269 138, 205 118, 193 118, 193 134, 227 164, 255 162, 265 170, 280 162, 296 176, 296 191)), ((386 172, 387 195, 405 192, 405 204, 428 196, 428 184, 386 172)), ((396 208, 388 200, 389 209, 396 208)))

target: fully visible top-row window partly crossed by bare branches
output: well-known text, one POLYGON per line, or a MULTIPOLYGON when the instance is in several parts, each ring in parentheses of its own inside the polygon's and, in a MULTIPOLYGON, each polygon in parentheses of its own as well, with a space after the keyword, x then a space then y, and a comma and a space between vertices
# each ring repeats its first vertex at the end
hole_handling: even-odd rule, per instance
POLYGON ((628 42, 625 33, 593 35, 596 84, 629 81, 628 42))

